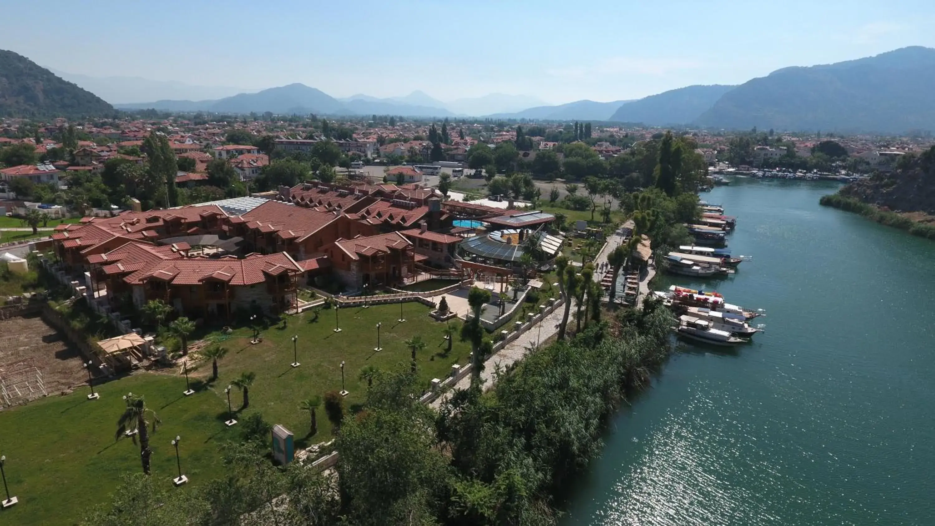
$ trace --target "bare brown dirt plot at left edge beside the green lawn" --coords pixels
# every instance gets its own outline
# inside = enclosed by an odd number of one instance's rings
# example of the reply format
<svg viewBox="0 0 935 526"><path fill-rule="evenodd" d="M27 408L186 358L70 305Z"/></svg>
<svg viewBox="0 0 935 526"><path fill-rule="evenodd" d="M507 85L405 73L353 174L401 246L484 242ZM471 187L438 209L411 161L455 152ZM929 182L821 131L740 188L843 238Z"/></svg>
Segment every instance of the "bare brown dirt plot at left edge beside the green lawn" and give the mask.
<svg viewBox="0 0 935 526"><path fill-rule="evenodd" d="M0 320L0 377L9 384L16 371L30 366L39 369L50 395L87 380L78 350L42 318Z"/></svg>

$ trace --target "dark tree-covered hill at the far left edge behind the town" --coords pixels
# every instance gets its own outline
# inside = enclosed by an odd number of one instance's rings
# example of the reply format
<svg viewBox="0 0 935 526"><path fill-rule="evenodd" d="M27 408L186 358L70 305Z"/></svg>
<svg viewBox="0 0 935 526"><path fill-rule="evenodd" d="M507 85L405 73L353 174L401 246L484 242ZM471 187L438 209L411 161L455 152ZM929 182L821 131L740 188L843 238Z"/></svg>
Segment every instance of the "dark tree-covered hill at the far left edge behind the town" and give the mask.
<svg viewBox="0 0 935 526"><path fill-rule="evenodd" d="M93 117L113 113L114 108L94 93L56 77L22 55L0 50L0 115Z"/></svg>

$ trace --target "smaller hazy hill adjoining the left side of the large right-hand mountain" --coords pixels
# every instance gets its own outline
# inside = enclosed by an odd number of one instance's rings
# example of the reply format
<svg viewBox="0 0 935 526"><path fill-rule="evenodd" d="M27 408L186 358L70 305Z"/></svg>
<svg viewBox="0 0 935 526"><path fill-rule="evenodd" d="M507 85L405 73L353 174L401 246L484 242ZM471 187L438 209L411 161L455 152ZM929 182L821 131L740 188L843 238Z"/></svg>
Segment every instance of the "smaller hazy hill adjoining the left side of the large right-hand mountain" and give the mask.
<svg viewBox="0 0 935 526"><path fill-rule="evenodd" d="M686 86L621 105L608 121L642 122L648 126L686 124L695 121L734 86Z"/></svg>

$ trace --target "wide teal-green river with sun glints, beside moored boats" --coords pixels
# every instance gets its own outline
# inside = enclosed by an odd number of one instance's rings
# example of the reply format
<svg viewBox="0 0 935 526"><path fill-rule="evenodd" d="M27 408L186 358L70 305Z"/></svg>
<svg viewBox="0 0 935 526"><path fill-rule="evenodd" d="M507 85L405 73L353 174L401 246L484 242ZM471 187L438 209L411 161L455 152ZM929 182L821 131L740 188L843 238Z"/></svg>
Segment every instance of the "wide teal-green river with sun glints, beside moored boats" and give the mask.
<svg viewBox="0 0 935 526"><path fill-rule="evenodd" d="M935 243L736 179L736 276L666 277L764 308L736 350L683 346L612 421L563 526L935 524Z"/></svg>

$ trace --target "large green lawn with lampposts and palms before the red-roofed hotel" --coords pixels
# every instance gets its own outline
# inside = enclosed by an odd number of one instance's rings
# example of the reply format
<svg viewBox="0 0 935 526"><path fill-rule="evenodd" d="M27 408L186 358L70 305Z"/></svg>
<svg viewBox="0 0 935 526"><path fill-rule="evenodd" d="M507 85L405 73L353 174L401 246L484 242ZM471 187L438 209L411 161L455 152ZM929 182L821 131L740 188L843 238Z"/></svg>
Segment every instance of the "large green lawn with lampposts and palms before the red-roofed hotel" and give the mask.
<svg viewBox="0 0 935 526"><path fill-rule="evenodd" d="M318 434L309 436L309 414L298 410L299 402L312 395L341 389L340 363L345 362L345 398L348 411L365 401L366 380L358 379L361 368L372 364L381 370L409 367L410 350L404 340L419 334L426 347L418 356L419 376L426 389L433 377L443 378L453 363L468 363L467 343L456 336L450 354L445 354L444 324L431 320L429 307L403 304L407 321L399 323L399 306L371 306L338 310L340 333L334 333L335 311L324 310L317 321L311 312L288 317L286 329L271 327L262 332L263 342L250 343L251 330L240 328L223 341L229 349L219 363L220 377L209 382L210 363L191 375L195 392L185 397L185 379L174 373L141 373L109 381L97 389L100 400L89 402L88 390L50 397L29 405L0 411L0 454L7 456L7 481L20 504L0 513L2 524L72 524L89 505L104 502L119 476L138 472L139 449L129 440L114 442L117 419L122 413L122 394L132 391L146 397L163 423L151 436L152 474L170 484L175 476L175 455L170 441L182 437L180 456L183 472L192 485L221 474L219 448L229 438L239 440L239 430L226 428L227 399L223 388L241 372L252 371L256 380L250 389L250 407L243 412L262 413L272 424L282 424L295 434L296 447L329 440L331 424L318 411ZM381 326L381 352L376 323ZM459 326L458 320L452 325ZM298 335L298 361L293 368L292 336ZM241 394L231 393L235 412ZM240 417L242 418L242 417ZM182 489L184 490L184 489Z"/></svg>

